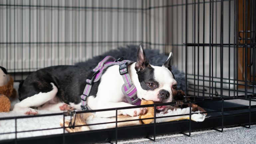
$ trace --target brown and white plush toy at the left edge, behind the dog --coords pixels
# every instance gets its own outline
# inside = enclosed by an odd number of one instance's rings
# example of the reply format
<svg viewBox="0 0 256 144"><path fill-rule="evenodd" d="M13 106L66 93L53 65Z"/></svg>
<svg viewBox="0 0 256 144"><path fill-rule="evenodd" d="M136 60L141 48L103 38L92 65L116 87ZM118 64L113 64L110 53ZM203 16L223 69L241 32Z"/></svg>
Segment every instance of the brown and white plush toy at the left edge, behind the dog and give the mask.
<svg viewBox="0 0 256 144"><path fill-rule="evenodd" d="M15 98L16 90L13 88L13 78L6 69L0 66L0 112L9 112L11 108L10 97Z"/></svg>

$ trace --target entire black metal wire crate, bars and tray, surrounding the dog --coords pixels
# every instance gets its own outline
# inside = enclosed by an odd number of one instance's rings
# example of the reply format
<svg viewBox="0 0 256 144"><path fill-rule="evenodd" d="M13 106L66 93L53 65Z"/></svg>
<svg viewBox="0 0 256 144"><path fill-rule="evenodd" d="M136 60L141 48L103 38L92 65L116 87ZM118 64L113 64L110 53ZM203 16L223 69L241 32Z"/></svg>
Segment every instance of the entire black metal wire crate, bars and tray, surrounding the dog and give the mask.
<svg viewBox="0 0 256 144"><path fill-rule="evenodd" d="M200 104L207 110L205 113L212 114L200 123L191 121L190 113L190 120L127 127L117 127L120 121L116 117L112 122L116 123L115 128L69 134L64 132L66 127L56 127L63 128L63 134L36 138L17 138L17 133L28 132L17 131L17 120L55 115L65 118L68 114L0 118L15 120L15 131L9 132L15 133L15 138L2 142L73 143L84 142L84 138L88 143L117 142L149 136L155 140L156 135L172 132L190 136L197 129L222 132L224 126L250 128L256 122L255 11L254 0L1 0L1 66L16 81L40 68L74 64L121 45L144 43L162 53L173 51L173 64L185 72L189 84L184 103L190 108L191 103ZM230 100L236 105L230 105ZM243 105L237 104L241 101ZM156 109L175 104L135 107ZM117 113L119 109L127 108L108 110ZM97 111L106 110L86 112ZM31 131L40 130L47 129ZM132 132L120 134L127 131Z"/></svg>

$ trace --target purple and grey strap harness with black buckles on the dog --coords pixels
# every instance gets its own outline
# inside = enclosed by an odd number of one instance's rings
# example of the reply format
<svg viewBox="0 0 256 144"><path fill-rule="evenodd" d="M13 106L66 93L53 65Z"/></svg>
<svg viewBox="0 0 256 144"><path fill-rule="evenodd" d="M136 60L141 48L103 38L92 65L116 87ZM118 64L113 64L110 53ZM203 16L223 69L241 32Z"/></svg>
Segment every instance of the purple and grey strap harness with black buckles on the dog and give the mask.
<svg viewBox="0 0 256 144"><path fill-rule="evenodd" d="M128 103L133 105L140 105L141 100L137 97L137 89L132 83L131 77L128 72L128 65L134 63L133 61L123 60L123 58L115 59L112 56L106 56L98 65L90 72L86 79L86 85L81 95L81 108L88 110L87 97L90 96L90 91L94 82L99 81L105 69L113 65L119 65L119 73L122 75L124 84L122 85L122 92L128 98Z"/></svg>

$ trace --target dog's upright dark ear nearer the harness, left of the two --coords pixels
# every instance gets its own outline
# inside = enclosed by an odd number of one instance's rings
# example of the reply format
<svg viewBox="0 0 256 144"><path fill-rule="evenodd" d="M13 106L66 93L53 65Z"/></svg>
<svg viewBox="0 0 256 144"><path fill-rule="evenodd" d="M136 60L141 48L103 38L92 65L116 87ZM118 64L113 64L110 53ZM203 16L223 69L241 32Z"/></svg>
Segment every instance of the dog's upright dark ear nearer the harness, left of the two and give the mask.
<svg viewBox="0 0 256 144"><path fill-rule="evenodd" d="M143 45L140 44L137 51L137 63L135 64L135 70L140 72L144 70L146 67L149 67L149 61L145 55Z"/></svg>

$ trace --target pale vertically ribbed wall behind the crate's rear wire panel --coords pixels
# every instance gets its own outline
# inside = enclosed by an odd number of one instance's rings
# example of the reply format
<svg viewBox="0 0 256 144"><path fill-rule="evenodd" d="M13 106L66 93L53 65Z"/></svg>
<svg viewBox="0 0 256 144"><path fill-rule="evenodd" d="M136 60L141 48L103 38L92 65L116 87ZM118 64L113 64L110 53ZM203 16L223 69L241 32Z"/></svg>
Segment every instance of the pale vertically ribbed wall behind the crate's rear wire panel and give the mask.
<svg viewBox="0 0 256 144"><path fill-rule="evenodd" d="M164 2L151 0L151 6ZM9 72L71 65L142 41L166 43L166 8L143 10L149 7L149 0L0 0L0 4L0 65ZM61 7L55 7L58 5ZM58 41L61 43L44 43ZM156 48L163 51L164 46Z"/></svg>

